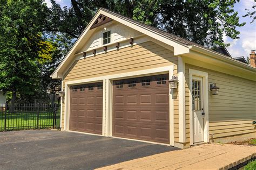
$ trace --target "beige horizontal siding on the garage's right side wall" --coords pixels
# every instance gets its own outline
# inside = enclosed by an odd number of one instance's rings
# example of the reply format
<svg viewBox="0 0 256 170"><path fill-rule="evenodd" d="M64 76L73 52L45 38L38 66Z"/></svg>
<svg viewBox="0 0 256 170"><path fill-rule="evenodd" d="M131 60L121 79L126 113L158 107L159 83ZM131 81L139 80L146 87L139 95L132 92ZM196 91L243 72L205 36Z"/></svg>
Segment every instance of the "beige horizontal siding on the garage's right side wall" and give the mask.
<svg viewBox="0 0 256 170"><path fill-rule="evenodd" d="M256 81L186 64L186 101L189 99L190 68L208 73L208 88L210 83L220 87L219 95L211 95L210 89L208 92L210 138L211 133L214 141L245 133L255 134L252 121L256 120Z"/></svg>

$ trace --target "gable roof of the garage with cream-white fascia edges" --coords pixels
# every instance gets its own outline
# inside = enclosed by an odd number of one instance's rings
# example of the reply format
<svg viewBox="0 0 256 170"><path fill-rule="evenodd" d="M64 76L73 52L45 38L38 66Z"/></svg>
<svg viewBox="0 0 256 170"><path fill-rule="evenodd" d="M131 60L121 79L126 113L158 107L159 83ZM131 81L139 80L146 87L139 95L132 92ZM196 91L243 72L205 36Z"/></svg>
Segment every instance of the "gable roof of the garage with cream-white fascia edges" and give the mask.
<svg viewBox="0 0 256 170"><path fill-rule="evenodd" d="M184 38L180 38L174 34L168 33L163 30L159 30L156 27L146 25L144 23L138 22L136 20L133 20L128 17L124 17L120 15L119 13L100 8L96 15L92 18L91 22L86 26L85 30L80 34L79 38L76 40L68 54L63 58L63 60L60 62L59 66L56 68L56 70L52 73L51 77L53 79L62 79L61 74L58 75L58 73L62 73L63 69L65 69L65 63L66 62L71 62L70 56L72 57L72 54L75 54L75 49L78 48L79 42L82 40L88 38L87 34L93 33L95 29L91 29L92 25L95 24L99 16L105 16L107 18L110 18L112 20L116 20L117 22L124 24L126 26L132 27L132 29L137 30L139 32L142 32L146 34L149 37L152 37L154 39L157 39L164 44L167 44L169 46L174 47L174 55L181 55L181 54L186 54L190 52L190 49L198 52L203 52L208 55L212 55L215 58L225 60L227 62L232 63L233 65L236 65L238 67L243 67L245 69L250 69L255 72L255 68L251 67L249 65L246 65L245 63L239 62L235 59L230 58L229 56L226 56L224 54L221 54L219 52L214 51L211 48L204 47L202 45L196 44L190 40L186 40ZM67 64L66 64L67 65Z"/></svg>

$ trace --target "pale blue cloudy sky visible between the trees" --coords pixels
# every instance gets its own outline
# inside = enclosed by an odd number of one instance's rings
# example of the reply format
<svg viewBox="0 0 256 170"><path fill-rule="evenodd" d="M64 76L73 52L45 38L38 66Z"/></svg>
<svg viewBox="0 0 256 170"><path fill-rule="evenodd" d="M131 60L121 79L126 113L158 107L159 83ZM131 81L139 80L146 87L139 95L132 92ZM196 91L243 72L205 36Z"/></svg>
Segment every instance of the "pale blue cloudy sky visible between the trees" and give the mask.
<svg viewBox="0 0 256 170"><path fill-rule="evenodd" d="M51 7L50 0L45 0L48 7ZM56 0L60 6L70 6L70 0ZM223 37L225 43L230 43L231 45L227 47L227 51L231 54L233 58L244 56L247 58L251 50L256 50L256 20L251 24L252 18L242 17L247 13L245 9L252 9L252 6L256 5L254 0L240 0L239 3L235 3L234 10L238 11L240 23L245 22L245 26L238 27L237 30L240 31L239 39L233 40L226 36ZM252 11L252 10L251 10Z"/></svg>

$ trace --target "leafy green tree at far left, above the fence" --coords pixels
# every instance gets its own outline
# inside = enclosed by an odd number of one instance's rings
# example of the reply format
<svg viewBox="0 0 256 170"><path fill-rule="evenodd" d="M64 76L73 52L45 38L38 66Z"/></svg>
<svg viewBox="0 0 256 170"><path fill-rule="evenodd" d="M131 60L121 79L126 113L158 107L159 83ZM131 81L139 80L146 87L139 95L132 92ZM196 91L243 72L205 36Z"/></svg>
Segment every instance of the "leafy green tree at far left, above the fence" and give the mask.
<svg viewBox="0 0 256 170"><path fill-rule="evenodd" d="M11 102L40 87L48 12L42 0L0 2L0 89L11 91Z"/></svg>

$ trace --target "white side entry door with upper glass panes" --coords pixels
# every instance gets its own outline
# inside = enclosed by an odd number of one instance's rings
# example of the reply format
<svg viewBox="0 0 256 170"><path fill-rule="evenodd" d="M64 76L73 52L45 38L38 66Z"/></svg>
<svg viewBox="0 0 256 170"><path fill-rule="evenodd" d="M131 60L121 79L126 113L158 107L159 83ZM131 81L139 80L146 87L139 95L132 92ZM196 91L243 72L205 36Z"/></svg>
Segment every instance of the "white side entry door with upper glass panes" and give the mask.
<svg viewBox="0 0 256 170"><path fill-rule="evenodd" d="M203 78L192 76L193 143L204 141Z"/></svg>

